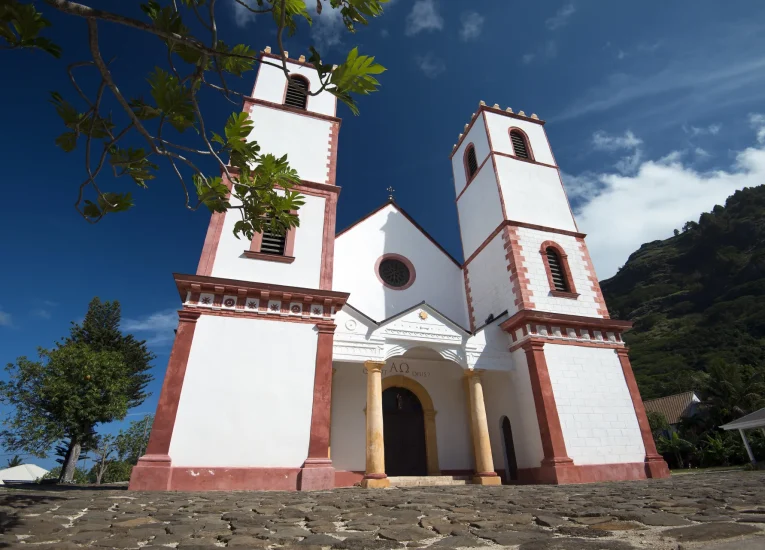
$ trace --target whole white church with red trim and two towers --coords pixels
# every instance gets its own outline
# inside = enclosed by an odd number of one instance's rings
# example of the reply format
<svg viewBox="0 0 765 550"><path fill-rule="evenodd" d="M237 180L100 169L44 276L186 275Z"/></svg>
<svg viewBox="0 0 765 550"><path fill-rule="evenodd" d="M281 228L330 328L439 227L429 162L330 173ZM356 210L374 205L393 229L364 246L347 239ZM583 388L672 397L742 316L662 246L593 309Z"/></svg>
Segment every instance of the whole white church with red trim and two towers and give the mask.
<svg viewBox="0 0 765 550"><path fill-rule="evenodd" d="M265 57L277 58L267 49ZM336 233L341 120L301 57L244 110L289 155L300 226L212 215L133 490L387 487L389 477L666 477L544 121L483 102L451 152L465 260L393 200Z"/></svg>

